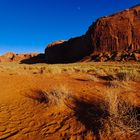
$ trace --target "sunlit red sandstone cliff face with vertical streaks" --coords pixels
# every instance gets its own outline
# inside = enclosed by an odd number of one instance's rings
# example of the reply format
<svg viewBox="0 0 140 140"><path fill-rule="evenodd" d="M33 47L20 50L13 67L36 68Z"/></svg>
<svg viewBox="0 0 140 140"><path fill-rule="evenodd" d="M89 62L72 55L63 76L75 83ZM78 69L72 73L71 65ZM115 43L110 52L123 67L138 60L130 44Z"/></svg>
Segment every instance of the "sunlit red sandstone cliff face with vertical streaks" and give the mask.
<svg viewBox="0 0 140 140"><path fill-rule="evenodd" d="M97 20L87 34L94 52L140 49L140 6Z"/></svg>

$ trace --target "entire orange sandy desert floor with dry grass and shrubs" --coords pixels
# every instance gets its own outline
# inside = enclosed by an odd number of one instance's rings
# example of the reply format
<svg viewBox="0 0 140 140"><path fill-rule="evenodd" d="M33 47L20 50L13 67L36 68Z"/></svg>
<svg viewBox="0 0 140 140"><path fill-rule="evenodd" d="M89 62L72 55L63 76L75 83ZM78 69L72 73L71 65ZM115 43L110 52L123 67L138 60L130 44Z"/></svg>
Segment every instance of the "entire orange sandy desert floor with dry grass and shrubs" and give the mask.
<svg viewBox="0 0 140 140"><path fill-rule="evenodd" d="M139 139L138 113L140 63L0 63L0 140Z"/></svg>

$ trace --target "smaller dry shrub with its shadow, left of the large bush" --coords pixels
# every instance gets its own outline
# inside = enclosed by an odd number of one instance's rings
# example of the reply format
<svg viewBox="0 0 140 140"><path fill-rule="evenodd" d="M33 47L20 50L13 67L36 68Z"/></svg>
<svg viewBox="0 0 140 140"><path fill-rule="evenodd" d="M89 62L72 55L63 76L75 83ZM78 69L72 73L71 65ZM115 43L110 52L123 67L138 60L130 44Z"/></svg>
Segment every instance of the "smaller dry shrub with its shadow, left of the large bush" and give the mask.
<svg viewBox="0 0 140 140"><path fill-rule="evenodd" d="M65 105L65 102L71 97L70 93L66 85L57 85L53 89L32 91L31 94L26 94L26 97L39 103L59 107Z"/></svg>

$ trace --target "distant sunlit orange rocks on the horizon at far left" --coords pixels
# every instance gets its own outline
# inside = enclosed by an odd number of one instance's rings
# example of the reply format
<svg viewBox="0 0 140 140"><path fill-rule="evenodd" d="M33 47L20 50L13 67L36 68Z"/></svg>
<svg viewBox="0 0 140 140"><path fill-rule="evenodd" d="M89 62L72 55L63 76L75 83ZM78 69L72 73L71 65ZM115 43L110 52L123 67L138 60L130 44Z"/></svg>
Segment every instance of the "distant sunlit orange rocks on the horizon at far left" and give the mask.
<svg viewBox="0 0 140 140"><path fill-rule="evenodd" d="M39 55L38 53L16 54L16 53L8 52L0 56L0 62L13 62L13 61L20 62L23 60L29 60L38 55Z"/></svg>

